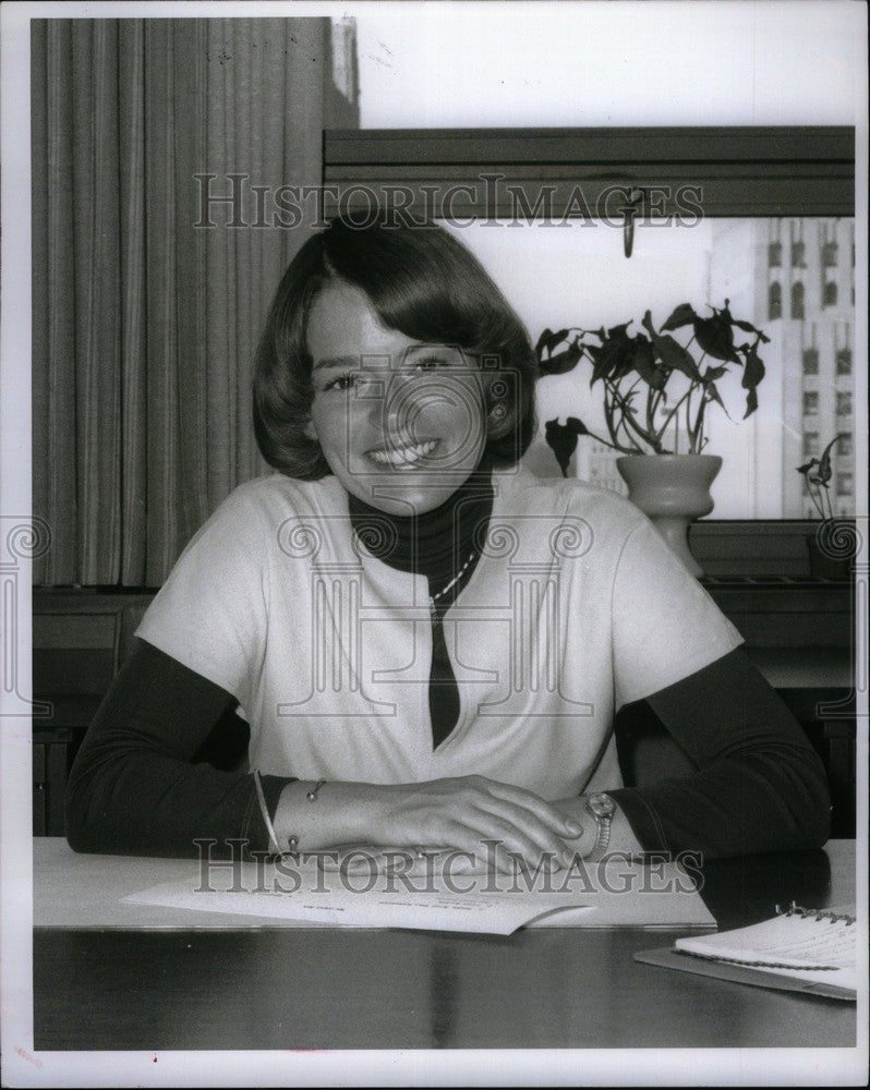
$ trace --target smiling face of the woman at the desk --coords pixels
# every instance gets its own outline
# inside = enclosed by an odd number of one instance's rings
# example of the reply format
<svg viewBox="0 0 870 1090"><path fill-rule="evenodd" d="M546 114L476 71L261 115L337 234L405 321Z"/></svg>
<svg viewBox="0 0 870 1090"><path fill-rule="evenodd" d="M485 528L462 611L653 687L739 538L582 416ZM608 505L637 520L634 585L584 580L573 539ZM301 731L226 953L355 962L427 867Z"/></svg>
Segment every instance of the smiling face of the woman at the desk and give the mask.
<svg viewBox="0 0 870 1090"><path fill-rule="evenodd" d="M391 514L445 502L486 443L484 376L474 361L387 329L342 281L317 296L307 339L312 431L345 488Z"/></svg>

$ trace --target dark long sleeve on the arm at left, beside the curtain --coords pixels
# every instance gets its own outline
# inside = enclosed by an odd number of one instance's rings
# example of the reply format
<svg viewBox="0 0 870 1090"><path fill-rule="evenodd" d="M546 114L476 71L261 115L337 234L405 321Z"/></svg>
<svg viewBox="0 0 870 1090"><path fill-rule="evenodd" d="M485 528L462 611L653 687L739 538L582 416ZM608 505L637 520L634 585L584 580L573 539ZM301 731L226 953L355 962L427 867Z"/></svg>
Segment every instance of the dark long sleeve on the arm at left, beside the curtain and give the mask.
<svg viewBox="0 0 870 1090"><path fill-rule="evenodd" d="M75 851L214 856L268 850L252 774L197 760L216 724L232 719L237 699L140 640L119 670L76 754L67 789L67 838ZM237 726L243 726L238 720ZM292 777L263 776L274 814ZM238 850L238 849L237 849Z"/></svg>

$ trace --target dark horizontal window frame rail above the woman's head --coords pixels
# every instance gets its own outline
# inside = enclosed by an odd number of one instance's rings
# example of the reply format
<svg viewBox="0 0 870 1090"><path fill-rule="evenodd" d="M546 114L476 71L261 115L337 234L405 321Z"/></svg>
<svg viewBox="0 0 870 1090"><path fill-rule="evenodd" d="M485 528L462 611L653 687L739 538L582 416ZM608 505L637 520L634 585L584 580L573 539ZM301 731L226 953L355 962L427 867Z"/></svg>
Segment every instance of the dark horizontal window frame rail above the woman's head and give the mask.
<svg viewBox="0 0 870 1090"><path fill-rule="evenodd" d="M325 130L323 183L327 215L365 207L366 190L404 189L410 207L430 208L424 186L452 194L455 218L511 216L519 194L534 208L547 191L558 214L579 185L593 211L614 189L665 190L655 208L675 215L680 190L700 186L705 217L854 217L855 129Z"/></svg>

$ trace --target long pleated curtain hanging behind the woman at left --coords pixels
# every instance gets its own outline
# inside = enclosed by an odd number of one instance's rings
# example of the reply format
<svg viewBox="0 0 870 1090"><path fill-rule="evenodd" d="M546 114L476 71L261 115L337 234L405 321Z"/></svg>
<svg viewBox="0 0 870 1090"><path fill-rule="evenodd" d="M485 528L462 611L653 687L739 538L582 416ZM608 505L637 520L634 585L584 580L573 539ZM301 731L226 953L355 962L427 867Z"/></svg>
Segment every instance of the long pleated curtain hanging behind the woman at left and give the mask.
<svg viewBox="0 0 870 1090"><path fill-rule="evenodd" d="M353 112L326 19L32 27L35 581L158 586L267 471L252 356L315 221L276 223L271 195L319 183L331 104Z"/></svg>

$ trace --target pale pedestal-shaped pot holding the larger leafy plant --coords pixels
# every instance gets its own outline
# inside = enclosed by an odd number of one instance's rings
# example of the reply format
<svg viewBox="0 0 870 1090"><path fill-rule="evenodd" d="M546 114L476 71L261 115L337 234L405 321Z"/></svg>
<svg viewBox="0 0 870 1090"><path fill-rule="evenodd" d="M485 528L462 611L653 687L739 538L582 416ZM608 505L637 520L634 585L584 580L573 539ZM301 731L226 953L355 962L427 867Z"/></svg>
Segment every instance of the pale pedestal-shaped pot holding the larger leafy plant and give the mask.
<svg viewBox="0 0 870 1090"><path fill-rule="evenodd" d="M710 486L722 469L717 455L627 455L616 467L628 498L647 514L693 576L703 570L689 549L689 524L710 514Z"/></svg>

